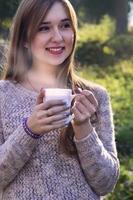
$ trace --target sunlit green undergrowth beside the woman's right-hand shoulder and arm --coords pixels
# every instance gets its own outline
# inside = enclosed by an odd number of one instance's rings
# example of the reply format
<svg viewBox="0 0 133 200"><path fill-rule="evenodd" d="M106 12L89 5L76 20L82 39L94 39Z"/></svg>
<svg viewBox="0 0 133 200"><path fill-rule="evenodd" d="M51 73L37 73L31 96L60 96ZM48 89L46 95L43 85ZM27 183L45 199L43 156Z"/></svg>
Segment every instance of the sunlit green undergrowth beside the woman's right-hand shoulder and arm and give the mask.
<svg viewBox="0 0 133 200"><path fill-rule="evenodd" d="M106 200L133 199L133 61L121 61L115 66L100 68L86 66L79 70L80 76L107 88L114 112L117 149L120 157L120 178L115 190Z"/></svg>

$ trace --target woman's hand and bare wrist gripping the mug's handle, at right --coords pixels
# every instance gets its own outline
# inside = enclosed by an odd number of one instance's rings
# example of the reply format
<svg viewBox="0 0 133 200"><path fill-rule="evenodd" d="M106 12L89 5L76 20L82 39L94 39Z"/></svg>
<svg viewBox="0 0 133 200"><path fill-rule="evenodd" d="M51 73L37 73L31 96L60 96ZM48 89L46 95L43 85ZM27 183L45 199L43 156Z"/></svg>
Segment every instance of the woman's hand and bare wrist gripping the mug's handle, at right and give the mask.
<svg viewBox="0 0 133 200"><path fill-rule="evenodd" d="M71 109L74 119L72 121L75 137L81 139L92 132L90 117L96 112L98 102L91 91L83 90L75 95L75 102Z"/></svg>

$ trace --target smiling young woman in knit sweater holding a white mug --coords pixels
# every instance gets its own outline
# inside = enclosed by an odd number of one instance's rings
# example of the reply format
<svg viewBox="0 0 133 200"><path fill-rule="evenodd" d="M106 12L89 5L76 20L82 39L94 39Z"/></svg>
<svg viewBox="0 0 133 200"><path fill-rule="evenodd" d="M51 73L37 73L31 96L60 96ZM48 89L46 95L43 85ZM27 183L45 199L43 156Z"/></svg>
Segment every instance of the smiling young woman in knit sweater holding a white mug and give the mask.
<svg viewBox="0 0 133 200"><path fill-rule="evenodd" d="M117 182L109 96L74 74L76 32L68 0L23 0L18 8L0 81L3 200L98 200ZM71 107L46 102L41 88L72 89Z"/></svg>

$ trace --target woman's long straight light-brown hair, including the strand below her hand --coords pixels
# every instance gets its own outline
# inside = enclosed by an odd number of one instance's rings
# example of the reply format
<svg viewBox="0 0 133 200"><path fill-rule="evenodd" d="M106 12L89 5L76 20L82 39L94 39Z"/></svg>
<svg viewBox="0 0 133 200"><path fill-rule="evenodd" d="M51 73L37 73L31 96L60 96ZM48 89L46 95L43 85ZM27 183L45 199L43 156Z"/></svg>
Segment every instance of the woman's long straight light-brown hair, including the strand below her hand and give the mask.
<svg viewBox="0 0 133 200"><path fill-rule="evenodd" d="M82 81L75 75L74 72L74 54L77 39L77 17L69 0L22 0L16 15L13 19L13 25L10 35L10 46L8 52L8 61L5 69L5 80L11 80L16 83L21 83L27 70L32 66L32 55L24 47L25 43L31 44L35 37L41 22L55 2L60 2L68 13L74 32L74 42L71 54L62 63L63 75L68 87L74 92L76 86L82 87ZM85 86L85 85L84 85ZM71 123L64 129L61 134L61 143L68 153L75 153L73 143L73 128Z"/></svg>

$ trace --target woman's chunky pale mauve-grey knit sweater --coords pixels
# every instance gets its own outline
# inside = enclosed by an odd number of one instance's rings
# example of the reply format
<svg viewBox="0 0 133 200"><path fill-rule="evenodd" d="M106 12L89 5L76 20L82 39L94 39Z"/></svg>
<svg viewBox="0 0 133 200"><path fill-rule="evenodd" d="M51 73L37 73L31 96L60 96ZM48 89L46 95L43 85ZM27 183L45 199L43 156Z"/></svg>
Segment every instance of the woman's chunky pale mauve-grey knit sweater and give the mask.
<svg viewBox="0 0 133 200"><path fill-rule="evenodd" d="M37 93L0 81L0 191L2 200L99 200L114 188L119 161L109 95L96 86L99 120L76 140L77 154L59 151L60 130L34 139L22 119L31 114Z"/></svg>

